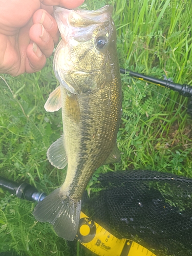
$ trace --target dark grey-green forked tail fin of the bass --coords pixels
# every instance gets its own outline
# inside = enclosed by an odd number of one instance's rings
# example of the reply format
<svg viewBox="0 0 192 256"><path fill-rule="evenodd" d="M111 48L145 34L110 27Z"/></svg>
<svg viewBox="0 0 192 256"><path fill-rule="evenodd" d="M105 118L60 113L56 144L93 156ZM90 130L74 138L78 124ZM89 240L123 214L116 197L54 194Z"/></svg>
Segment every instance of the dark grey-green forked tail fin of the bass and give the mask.
<svg viewBox="0 0 192 256"><path fill-rule="evenodd" d="M58 188L38 203L33 214L37 221L49 221L59 237L73 241L79 225L80 210L81 200L70 201Z"/></svg>

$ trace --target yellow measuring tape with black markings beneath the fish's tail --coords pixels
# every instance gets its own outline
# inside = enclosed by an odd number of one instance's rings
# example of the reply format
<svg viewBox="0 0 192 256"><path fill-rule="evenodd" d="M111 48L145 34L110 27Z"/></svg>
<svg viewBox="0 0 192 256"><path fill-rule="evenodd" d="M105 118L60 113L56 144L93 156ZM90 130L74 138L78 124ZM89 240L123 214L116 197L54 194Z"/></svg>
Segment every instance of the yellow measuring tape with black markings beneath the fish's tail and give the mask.
<svg viewBox="0 0 192 256"><path fill-rule="evenodd" d="M134 241L114 237L82 211L76 240L100 256L156 256Z"/></svg>

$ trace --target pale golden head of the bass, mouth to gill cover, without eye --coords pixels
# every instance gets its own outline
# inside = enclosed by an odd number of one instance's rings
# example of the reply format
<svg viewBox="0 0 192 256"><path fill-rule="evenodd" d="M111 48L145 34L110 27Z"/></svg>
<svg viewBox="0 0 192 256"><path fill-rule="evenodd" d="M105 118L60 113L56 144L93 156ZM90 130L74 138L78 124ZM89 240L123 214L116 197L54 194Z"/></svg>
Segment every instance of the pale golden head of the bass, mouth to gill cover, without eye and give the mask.
<svg viewBox="0 0 192 256"><path fill-rule="evenodd" d="M105 78L101 73L109 52L108 48L99 51L95 38L103 35L109 40L113 34L115 29L112 11L113 6L110 5L96 11L54 7L54 16L62 38L54 55L54 72L61 86L70 93L87 95L98 91L102 86ZM81 49L83 46L89 49L84 51ZM99 55L99 63L93 65L90 57L86 60L87 53L88 56L92 53L95 53L96 57Z"/></svg>

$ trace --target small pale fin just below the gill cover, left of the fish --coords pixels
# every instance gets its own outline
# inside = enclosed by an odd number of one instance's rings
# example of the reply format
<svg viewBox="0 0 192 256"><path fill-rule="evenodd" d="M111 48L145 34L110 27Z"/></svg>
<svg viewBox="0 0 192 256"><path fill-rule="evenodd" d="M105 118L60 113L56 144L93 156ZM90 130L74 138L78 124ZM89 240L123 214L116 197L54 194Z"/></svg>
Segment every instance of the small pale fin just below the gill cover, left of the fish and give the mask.
<svg viewBox="0 0 192 256"><path fill-rule="evenodd" d="M61 108L60 86L57 87L50 95L44 106L48 112L58 111Z"/></svg>

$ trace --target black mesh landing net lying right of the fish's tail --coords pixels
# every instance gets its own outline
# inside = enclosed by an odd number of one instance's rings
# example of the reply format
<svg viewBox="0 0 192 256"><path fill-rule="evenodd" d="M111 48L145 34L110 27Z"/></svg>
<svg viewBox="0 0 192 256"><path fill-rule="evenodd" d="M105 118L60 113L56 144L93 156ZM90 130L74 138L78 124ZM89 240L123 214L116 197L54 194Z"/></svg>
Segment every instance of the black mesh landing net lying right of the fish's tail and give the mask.
<svg viewBox="0 0 192 256"><path fill-rule="evenodd" d="M192 255L192 179L133 170L101 174L82 210L158 256Z"/></svg>

